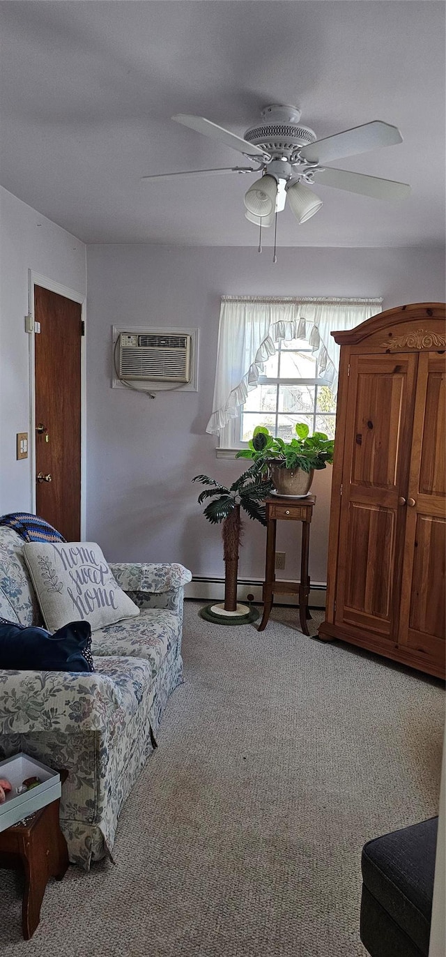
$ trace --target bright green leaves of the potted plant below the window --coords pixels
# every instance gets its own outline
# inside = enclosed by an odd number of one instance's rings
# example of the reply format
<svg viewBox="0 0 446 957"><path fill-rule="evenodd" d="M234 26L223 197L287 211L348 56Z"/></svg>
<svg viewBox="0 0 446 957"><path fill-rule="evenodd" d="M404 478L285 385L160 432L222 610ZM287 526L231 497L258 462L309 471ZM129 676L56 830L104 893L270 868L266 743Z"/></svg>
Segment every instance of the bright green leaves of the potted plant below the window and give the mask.
<svg viewBox="0 0 446 957"><path fill-rule="evenodd" d="M285 442L282 438L275 438L265 426L259 425L248 442L248 448L237 452L235 457L253 459L262 474L270 463L283 469L300 468L303 472L311 472L312 469L324 469L327 463L333 461L332 438L323 432L310 435L305 422L297 422L295 431L296 438Z"/></svg>

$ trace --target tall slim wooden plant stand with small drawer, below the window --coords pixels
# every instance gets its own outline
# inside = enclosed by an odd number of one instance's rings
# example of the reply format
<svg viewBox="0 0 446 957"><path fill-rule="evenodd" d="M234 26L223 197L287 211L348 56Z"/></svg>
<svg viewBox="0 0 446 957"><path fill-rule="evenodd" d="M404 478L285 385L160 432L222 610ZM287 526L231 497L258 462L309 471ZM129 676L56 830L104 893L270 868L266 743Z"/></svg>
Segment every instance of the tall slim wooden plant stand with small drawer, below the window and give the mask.
<svg viewBox="0 0 446 957"><path fill-rule="evenodd" d="M258 626L259 632L262 632L263 629L266 628L273 607L273 597L274 594L277 593L299 595L301 630L303 634L310 634L307 625L307 619L311 618L311 614L308 611L308 595L310 591L308 551L310 545L310 522L315 502L316 497L313 495L308 495L304 499L288 499L285 498L285 496L275 496L274 498L265 500L266 569L263 584L263 617ZM276 580L276 530L278 519L283 519L285 522L302 523L300 582L279 582Z"/></svg>

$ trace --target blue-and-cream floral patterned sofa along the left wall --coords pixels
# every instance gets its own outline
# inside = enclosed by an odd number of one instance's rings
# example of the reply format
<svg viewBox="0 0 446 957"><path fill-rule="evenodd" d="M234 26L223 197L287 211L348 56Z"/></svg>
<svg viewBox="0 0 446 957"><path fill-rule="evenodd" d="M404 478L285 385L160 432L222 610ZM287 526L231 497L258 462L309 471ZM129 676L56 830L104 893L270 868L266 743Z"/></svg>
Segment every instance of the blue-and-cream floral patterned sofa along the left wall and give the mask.
<svg viewBox="0 0 446 957"><path fill-rule="evenodd" d="M42 625L23 540L0 527L0 617ZM94 673L0 669L0 757L25 751L67 768L60 825L70 860L111 855L118 817L146 758L170 693L183 677L182 565L111 565L140 607L137 618L92 635Z"/></svg>

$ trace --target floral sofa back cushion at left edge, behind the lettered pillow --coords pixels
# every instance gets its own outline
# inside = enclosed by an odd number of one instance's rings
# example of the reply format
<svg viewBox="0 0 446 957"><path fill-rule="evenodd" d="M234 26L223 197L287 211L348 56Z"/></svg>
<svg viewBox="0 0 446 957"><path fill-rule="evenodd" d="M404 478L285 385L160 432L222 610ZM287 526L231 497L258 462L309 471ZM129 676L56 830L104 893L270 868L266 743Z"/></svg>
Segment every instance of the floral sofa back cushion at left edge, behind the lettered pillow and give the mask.
<svg viewBox="0 0 446 957"><path fill-rule="evenodd" d="M23 544L12 528L0 527L0 616L20 625L42 625Z"/></svg>

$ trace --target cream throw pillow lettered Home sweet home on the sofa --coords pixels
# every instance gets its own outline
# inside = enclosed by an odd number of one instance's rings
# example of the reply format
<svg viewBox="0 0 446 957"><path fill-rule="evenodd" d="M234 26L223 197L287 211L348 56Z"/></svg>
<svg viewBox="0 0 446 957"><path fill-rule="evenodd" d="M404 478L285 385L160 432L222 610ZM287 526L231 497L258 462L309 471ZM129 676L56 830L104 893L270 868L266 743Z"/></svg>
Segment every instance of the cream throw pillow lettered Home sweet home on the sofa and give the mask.
<svg viewBox="0 0 446 957"><path fill-rule="evenodd" d="M95 632L140 613L113 577L96 542L29 542L23 555L51 632L75 616L88 621Z"/></svg>

